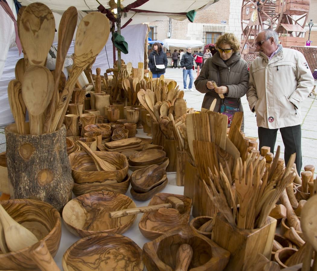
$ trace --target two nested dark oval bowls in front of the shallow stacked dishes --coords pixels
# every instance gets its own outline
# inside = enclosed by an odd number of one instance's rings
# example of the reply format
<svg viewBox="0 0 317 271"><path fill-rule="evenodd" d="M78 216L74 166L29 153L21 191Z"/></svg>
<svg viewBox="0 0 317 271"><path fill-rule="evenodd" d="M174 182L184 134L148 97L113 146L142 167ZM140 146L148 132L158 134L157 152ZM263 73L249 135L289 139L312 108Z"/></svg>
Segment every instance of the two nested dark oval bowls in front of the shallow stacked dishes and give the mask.
<svg viewBox="0 0 317 271"><path fill-rule="evenodd" d="M166 171L158 165L134 171L131 175L131 195L134 199L145 201L160 192L168 183Z"/></svg>

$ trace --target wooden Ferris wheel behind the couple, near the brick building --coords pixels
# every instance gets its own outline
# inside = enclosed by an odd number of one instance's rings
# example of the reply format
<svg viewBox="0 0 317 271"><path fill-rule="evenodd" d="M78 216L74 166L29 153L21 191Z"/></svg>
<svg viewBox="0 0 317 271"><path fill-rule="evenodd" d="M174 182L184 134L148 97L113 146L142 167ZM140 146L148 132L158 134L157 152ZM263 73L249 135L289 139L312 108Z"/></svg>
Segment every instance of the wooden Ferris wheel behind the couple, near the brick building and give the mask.
<svg viewBox="0 0 317 271"><path fill-rule="evenodd" d="M304 26L310 0L243 0L241 7L241 52L254 53L255 39L263 29L274 29L284 47L304 43ZM300 44L298 44L300 45ZM305 44L302 44L305 45Z"/></svg>

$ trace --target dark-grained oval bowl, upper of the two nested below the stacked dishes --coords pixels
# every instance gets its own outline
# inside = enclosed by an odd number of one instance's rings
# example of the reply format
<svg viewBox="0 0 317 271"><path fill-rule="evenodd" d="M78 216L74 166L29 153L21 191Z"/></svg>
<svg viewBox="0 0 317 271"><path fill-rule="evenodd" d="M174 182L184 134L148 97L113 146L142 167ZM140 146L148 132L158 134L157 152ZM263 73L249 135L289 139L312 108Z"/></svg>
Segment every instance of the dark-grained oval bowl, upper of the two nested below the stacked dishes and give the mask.
<svg viewBox="0 0 317 271"><path fill-rule="evenodd" d="M165 169L158 165L138 169L131 175L131 186L138 193L148 192L166 180Z"/></svg>

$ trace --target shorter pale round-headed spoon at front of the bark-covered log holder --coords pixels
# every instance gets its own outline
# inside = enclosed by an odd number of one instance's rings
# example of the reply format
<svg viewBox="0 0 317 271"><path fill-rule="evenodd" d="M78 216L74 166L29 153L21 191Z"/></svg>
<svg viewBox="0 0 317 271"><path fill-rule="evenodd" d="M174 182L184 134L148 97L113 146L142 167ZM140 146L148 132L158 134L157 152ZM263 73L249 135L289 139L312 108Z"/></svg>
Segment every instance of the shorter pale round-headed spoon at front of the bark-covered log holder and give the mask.
<svg viewBox="0 0 317 271"><path fill-rule="evenodd" d="M30 134L38 135L42 130L41 114L49 105L53 95L54 79L48 68L30 66L24 74L22 97L29 112Z"/></svg>

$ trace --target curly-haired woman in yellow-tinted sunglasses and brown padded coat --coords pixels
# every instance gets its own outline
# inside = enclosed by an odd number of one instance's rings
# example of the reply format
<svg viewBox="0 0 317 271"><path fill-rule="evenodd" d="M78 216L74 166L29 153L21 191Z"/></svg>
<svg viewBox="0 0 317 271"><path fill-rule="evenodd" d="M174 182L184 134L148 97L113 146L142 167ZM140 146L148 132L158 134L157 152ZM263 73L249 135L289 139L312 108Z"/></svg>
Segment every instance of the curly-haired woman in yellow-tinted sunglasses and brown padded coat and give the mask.
<svg viewBox="0 0 317 271"><path fill-rule="evenodd" d="M226 102L236 104L239 111L243 111L240 98L248 90L249 72L247 62L239 53L240 42L232 33L225 33L218 37L215 47L217 53L205 61L194 82L199 92L206 93L202 107L209 109L217 99L214 111L219 112L223 103L219 94L223 94ZM218 87L215 88L211 81L215 81Z"/></svg>

